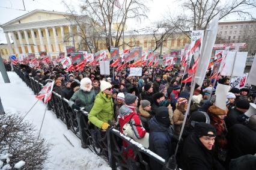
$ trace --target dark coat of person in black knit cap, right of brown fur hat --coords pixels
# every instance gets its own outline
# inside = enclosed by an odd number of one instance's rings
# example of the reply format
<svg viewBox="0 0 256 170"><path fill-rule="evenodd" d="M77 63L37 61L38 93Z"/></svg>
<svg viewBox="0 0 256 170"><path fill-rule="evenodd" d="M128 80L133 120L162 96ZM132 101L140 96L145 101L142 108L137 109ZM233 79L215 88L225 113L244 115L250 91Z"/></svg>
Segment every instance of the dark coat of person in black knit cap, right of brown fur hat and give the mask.
<svg viewBox="0 0 256 170"><path fill-rule="evenodd" d="M225 123L227 126L227 129L229 130L230 127L232 127L234 124L240 123L237 118L239 118L240 115L243 115L243 112L237 110L236 108L231 109L227 117L225 118Z"/></svg>

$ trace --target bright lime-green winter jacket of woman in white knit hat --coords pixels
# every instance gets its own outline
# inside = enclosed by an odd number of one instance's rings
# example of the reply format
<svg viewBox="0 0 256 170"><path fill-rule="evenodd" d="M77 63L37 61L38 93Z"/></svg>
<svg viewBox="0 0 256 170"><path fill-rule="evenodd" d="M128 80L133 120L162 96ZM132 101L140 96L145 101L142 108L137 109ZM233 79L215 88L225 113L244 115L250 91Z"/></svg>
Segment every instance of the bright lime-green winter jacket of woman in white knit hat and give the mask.
<svg viewBox="0 0 256 170"><path fill-rule="evenodd" d="M88 116L89 121L99 128L102 128L103 123L108 123L108 120L112 122L114 120L113 106L113 100L106 98L100 91Z"/></svg>

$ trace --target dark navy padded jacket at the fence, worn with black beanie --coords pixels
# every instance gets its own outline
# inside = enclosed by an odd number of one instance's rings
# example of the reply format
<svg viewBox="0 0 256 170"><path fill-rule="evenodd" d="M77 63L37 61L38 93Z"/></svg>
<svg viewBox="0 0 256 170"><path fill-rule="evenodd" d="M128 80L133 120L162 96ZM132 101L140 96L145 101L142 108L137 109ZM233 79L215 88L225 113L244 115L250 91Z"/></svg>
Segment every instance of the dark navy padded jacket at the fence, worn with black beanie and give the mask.
<svg viewBox="0 0 256 170"><path fill-rule="evenodd" d="M173 132L171 128L160 125L156 118L153 117L149 121L150 135L149 135L149 149L160 157L168 161L169 157L173 154L173 146L171 145L171 138ZM154 159L150 159L151 169L162 169L163 165Z"/></svg>

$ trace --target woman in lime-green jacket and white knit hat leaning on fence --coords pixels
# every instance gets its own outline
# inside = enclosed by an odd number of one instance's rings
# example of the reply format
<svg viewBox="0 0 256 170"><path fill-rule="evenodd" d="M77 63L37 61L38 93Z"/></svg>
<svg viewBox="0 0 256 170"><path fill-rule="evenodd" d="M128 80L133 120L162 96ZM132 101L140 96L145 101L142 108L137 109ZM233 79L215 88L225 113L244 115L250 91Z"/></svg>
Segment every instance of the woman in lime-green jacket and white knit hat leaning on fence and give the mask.
<svg viewBox="0 0 256 170"><path fill-rule="evenodd" d="M112 100L112 85L105 80L100 82L100 93L97 94L88 119L102 130L109 127L108 122L114 120L114 103Z"/></svg>

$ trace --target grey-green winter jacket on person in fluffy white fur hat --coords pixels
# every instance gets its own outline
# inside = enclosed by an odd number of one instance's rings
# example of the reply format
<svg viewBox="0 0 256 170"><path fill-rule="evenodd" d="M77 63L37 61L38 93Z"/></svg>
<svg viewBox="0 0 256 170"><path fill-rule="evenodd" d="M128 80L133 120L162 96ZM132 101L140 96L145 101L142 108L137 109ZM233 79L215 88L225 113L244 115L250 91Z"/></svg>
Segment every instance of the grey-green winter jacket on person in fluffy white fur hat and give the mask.
<svg viewBox="0 0 256 170"><path fill-rule="evenodd" d="M82 102L80 106L84 107L84 111L87 111L89 113L91 111L91 108L93 108L95 96L96 94L93 89L91 91L84 91L79 89L70 98L69 106L72 107L72 105L76 102L76 99L80 99Z"/></svg>

